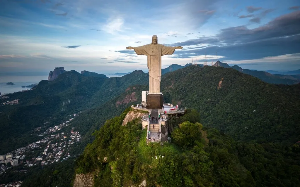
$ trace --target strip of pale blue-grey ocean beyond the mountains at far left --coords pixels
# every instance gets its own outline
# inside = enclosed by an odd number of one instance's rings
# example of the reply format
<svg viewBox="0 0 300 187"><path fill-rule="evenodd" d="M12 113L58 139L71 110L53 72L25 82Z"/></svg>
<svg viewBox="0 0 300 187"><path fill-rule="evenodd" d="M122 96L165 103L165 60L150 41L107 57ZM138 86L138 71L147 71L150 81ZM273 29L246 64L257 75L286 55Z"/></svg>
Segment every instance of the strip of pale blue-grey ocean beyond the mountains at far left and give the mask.
<svg viewBox="0 0 300 187"><path fill-rule="evenodd" d="M41 80L48 80L48 75L44 76L0 76L0 92L2 95L7 93L19 92L30 88L22 88L30 84L39 83ZM14 85L7 85L12 82Z"/></svg>

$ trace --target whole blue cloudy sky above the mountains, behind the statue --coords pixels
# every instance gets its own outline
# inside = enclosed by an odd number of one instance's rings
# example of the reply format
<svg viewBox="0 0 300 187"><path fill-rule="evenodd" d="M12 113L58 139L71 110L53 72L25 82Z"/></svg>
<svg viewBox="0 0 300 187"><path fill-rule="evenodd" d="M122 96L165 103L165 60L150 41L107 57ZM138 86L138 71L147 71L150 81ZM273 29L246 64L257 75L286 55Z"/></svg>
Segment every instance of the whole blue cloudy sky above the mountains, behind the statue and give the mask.
<svg viewBox="0 0 300 187"><path fill-rule="evenodd" d="M1 0L0 74L55 67L110 74L143 70L126 47L183 46L162 68L197 58L244 69L300 69L299 0ZM217 54L217 56L216 56Z"/></svg>

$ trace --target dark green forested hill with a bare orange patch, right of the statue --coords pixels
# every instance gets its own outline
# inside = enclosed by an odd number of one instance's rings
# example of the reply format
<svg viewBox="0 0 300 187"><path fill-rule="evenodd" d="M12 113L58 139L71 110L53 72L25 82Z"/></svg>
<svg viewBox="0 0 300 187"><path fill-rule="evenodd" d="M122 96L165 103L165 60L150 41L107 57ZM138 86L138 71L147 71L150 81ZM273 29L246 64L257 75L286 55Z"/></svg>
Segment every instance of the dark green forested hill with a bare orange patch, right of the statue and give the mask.
<svg viewBox="0 0 300 187"><path fill-rule="evenodd" d="M195 108L204 126L235 139L300 140L300 84L273 85L234 69L188 66L162 77L166 102Z"/></svg>

